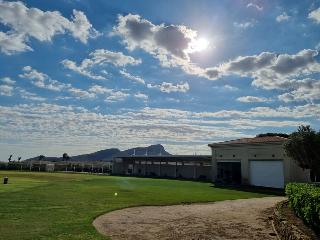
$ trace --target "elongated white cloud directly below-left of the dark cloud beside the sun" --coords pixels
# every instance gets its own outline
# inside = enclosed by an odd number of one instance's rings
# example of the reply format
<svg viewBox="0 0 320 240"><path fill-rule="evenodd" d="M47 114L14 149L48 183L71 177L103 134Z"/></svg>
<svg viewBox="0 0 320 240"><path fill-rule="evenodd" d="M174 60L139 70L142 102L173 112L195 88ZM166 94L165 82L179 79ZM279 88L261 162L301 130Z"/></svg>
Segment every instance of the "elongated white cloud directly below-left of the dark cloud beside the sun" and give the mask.
<svg viewBox="0 0 320 240"><path fill-rule="evenodd" d="M135 60L131 56L125 56L122 52L111 52L105 49L96 49L89 54L95 64L110 62L115 66L125 66L130 64L132 66L141 64L141 59Z"/></svg>

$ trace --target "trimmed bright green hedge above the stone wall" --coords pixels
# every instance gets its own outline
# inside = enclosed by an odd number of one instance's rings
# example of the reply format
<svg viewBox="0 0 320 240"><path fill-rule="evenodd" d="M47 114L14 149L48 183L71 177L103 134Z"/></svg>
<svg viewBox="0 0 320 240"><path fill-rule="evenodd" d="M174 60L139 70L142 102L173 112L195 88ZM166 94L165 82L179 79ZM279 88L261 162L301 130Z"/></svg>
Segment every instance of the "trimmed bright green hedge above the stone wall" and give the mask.
<svg viewBox="0 0 320 240"><path fill-rule="evenodd" d="M290 182L285 193L291 209L310 227L320 228L320 185Z"/></svg>

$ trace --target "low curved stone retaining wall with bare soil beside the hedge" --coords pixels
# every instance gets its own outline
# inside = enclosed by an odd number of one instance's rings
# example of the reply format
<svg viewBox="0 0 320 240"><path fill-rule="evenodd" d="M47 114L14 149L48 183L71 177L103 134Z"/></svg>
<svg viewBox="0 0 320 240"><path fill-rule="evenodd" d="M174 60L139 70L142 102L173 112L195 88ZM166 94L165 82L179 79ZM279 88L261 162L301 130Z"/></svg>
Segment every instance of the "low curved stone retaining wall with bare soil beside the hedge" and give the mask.
<svg viewBox="0 0 320 240"><path fill-rule="evenodd" d="M307 240L309 237L303 234L297 227L288 223L288 220L283 217L282 205L287 203L287 200L276 204L273 212L273 224L281 240Z"/></svg>

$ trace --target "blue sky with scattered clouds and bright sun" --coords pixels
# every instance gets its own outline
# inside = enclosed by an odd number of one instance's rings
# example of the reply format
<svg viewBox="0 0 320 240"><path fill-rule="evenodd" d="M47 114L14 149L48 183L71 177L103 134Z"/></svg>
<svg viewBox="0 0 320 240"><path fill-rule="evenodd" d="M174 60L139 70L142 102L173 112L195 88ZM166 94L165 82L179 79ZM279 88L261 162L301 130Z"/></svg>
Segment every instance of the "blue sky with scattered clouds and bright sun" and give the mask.
<svg viewBox="0 0 320 240"><path fill-rule="evenodd" d="M0 0L0 48L2 161L320 128L320 1Z"/></svg>

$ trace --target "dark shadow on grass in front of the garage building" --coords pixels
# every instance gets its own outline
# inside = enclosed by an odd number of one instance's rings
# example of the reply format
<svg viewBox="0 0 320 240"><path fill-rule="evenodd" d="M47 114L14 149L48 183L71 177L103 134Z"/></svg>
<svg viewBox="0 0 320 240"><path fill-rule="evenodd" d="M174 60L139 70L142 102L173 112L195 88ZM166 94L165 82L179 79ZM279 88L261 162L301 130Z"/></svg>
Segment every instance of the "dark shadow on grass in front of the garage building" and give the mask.
<svg viewBox="0 0 320 240"><path fill-rule="evenodd" d="M214 183L212 188L222 188L222 189L230 189L236 191L243 192L252 192L252 193L260 193L260 194L269 194L275 196L286 196L284 189L281 188L267 188L267 187L258 187L258 186L245 186L236 183L226 183L226 182L216 182Z"/></svg>

